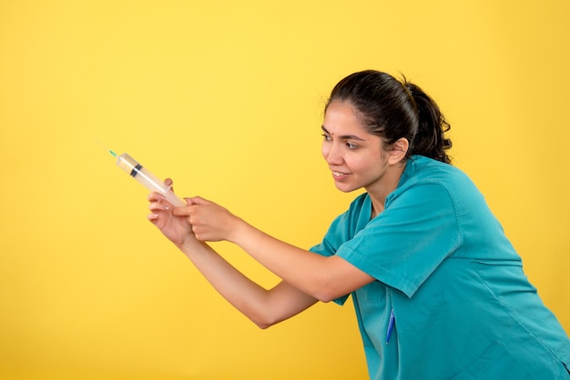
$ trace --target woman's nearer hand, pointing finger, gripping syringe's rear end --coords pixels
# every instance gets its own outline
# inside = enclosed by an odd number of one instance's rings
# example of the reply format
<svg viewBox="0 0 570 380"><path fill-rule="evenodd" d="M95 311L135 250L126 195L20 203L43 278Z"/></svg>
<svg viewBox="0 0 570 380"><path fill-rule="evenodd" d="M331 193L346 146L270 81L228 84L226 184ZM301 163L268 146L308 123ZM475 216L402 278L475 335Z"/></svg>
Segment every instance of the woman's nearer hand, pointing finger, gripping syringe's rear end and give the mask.
<svg viewBox="0 0 570 380"><path fill-rule="evenodd" d="M224 207L199 196L185 199L188 206L175 208L173 215L186 216L198 240L203 242L232 241L232 234L242 221L239 217L231 214Z"/></svg>

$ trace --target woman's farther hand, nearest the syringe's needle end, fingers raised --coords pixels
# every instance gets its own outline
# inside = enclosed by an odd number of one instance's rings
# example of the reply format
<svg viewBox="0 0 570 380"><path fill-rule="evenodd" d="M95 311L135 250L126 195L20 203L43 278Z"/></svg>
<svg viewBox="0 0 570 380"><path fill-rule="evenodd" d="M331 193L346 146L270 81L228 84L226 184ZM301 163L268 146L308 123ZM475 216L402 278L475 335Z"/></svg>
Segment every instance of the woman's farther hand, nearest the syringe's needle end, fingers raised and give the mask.
<svg viewBox="0 0 570 380"><path fill-rule="evenodd" d="M172 180L167 178L164 183L172 185ZM148 195L148 202L150 202L148 209L152 212L148 215L148 220L156 225L160 232L167 236L168 240L180 247L189 240L195 240L192 226L188 224L188 218L174 215L175 207L163 195L151 193ZM185 206L181 208L185 208Z"/></svg>

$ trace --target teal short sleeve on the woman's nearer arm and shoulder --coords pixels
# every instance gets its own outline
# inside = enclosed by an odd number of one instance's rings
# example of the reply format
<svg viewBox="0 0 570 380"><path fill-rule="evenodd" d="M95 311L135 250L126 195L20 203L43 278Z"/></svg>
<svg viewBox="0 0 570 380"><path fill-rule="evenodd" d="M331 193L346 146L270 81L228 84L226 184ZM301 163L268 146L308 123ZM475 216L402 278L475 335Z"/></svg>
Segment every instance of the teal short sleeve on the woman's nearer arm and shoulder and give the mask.
<svg viewBox="0 0 570 380"><path fill-rule="evenodd" d="M460 245L453 196L444 185L426 182L392 193L382 214L336 255L412 297Z"/></svg>

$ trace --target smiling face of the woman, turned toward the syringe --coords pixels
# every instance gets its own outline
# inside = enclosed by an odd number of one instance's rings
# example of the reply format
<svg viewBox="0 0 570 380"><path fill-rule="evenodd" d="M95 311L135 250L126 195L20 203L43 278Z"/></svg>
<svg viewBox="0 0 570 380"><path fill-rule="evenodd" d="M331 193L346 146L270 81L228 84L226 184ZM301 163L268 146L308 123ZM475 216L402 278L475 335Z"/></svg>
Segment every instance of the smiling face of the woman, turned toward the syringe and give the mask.
<svg viewBox="0 0 570 380"><path fill-rule="evenodd" d="M379 190L388 166L382 139L368 133L348 102L332 101L324 115L322 155L339 190Z"/></svg>

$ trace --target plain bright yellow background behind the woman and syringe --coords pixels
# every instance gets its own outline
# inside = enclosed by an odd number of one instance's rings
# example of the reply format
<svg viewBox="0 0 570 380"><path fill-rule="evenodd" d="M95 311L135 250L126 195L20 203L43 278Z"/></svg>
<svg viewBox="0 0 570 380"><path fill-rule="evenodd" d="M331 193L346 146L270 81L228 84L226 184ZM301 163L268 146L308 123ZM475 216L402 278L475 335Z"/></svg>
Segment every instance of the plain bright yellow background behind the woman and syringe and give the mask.
<svg viewBox="0 0 570 380"><path fill-rule="evenodd" d="M565 0L1 0L0 378L367 378L351 305L259 330L96 143L309 247L355 196L321 159L322 107L367 68L441 105L454 164L568 331L569 15Z"/></svg>

